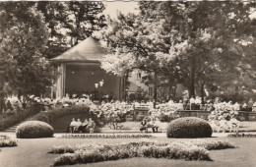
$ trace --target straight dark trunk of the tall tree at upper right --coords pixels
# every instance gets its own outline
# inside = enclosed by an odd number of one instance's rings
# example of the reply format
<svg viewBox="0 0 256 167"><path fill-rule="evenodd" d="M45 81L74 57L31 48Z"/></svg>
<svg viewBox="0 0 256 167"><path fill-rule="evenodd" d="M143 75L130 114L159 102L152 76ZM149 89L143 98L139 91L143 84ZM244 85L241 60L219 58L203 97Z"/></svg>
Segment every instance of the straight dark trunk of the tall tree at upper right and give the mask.
<svg viewBox="0 0 256 167"><path fill-rule="evenodd" d="M189 98L191 96L195 96L195 64L196 64L196 57L190 57L190 86L189 86Z"/></svg>

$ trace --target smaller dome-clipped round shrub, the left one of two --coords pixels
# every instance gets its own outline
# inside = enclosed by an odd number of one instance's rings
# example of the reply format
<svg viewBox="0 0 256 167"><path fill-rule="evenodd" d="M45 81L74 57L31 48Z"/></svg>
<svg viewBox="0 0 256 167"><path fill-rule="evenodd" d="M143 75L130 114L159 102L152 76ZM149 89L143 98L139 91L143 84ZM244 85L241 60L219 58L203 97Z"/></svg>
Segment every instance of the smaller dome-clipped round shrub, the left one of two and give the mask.
<svg viewBox="0 0 256 167"><path fill-rule="evenodd" d="M53 128L41 121L27 121L16 129L17 138L35 139L53 137Z"/></svg>

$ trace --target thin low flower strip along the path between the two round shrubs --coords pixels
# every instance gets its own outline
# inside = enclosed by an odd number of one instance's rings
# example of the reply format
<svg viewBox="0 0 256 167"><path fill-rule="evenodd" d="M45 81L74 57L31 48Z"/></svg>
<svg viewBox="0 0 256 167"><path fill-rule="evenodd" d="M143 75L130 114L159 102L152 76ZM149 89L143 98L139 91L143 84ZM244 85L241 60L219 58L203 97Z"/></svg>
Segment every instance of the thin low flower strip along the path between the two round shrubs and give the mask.
<svg viewBox="0 0 256 167"><path fill-rule="evenodd" d="M61 139L151 139L152 135L100 135L100 134L83 134L83 135L63 135Z"/></svg>

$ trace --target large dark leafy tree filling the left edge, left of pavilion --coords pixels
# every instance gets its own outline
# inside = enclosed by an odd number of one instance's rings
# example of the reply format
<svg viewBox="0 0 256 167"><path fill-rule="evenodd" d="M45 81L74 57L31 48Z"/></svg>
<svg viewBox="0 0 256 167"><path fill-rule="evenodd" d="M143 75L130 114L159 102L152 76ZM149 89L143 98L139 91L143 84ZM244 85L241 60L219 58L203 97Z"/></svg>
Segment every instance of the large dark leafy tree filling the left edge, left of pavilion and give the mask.
<svg viewBox="0 0 256 167"><path fill-rule="evenodd" d="M1 89L23 96L43 94L54 79L53 69L43 57L48 39L42 15L33 2L1 2Z"/></svg>

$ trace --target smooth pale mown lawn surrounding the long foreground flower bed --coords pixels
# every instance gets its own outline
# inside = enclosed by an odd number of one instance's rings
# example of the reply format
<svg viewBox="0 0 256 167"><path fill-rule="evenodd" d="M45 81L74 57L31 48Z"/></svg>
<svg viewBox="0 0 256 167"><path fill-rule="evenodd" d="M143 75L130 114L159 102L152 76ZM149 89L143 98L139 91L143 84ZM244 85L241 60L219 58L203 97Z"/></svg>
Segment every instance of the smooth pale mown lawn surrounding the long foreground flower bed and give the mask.
<svg viewBox="0 0 256 167"><path fill-rule="evenodd" d="M6 134L6 133L3 133ZM6 134L15 139L15 134ZM222 134L223 135L223 134ZM61 134L55 135L60 137ZM215 134L216 136L216 134ZM140 167L159 167L159 166L246 166L255 167L256 165L256 139L231 139L221 137L211 139L228 139L235 143L239 148L211 150L210 156L214 161L183 161L183 160L168 160L168 159L150 159L150 158L133 158L117 161L99 162L87 165L72 165L74 167L92 166L92 167L112 167L112 166L140 166ZM224 135L223 135L224 136ZM17 147L4 147L0 152L0 166L4 167L49 167L53 164L54 158L59 156L49 154L47 151L52 145L60 144L76 144L76 143L117 143L138 141L140 139L18 139ZM190 139L167 139L165 134L157 134L154 139L146 140L190 140Z"/></svg>

